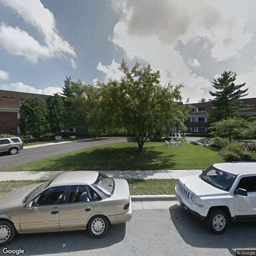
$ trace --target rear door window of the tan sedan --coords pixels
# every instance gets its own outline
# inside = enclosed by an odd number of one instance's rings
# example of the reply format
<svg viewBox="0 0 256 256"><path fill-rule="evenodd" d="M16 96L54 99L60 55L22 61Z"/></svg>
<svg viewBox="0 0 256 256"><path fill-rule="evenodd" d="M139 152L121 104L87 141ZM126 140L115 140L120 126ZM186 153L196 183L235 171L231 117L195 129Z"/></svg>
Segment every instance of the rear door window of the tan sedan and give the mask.
<svg viewBox="0 0 256 256"><path fill-rule="evenodd" d="M78 203L78 202L89 202L90 197L88 196L85 185L72 185L68 186L67 193L64 197L66 204Z"/></svg>

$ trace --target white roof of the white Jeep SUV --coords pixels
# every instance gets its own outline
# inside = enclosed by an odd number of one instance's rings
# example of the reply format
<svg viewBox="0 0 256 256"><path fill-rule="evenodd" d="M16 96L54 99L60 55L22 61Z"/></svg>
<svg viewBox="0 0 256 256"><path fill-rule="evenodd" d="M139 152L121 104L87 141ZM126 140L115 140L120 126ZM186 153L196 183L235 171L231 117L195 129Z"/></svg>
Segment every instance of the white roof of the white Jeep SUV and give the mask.
<svg viewBox="0 0 256 256"><path fill-rule="evenodd" d="M255 172L256 174L256 162L231 162L213 164L213 166L219 170L230 172L233 174Z"/></svg>

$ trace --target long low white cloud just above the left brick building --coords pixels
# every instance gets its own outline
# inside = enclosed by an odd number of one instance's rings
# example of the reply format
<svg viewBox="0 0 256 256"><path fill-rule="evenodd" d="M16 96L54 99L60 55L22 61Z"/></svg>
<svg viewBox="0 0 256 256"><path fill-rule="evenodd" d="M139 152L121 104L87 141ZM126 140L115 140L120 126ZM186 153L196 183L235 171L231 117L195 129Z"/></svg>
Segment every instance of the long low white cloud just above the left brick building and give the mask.
<svg viewBox="0 0 256 256"><path fill-rule="evenodd" d="M1 90L8 90L14 92L29 92L35 94L45 94L53 95L55 93L62 93L62 88L60 87L47 87L44 90L36 89L33 86L23 84L22 82L4 84L1 86Z"/></svg>

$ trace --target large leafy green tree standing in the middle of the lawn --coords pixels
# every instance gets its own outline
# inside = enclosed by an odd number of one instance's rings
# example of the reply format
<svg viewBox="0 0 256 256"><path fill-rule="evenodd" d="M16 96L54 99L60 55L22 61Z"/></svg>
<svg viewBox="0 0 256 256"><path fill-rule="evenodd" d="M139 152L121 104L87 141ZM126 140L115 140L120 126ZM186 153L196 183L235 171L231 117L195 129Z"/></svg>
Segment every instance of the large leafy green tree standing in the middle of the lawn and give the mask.
<svg viewBox="0 0 256 256"><path fill-rule="evenodd" d="M143 150L146 139L157 130L170 132L174 121L188 117L191 108L174 100L182 100L182 84L164 87L160 85L160 72L153 72L150 64L139 68L137 62L129 71L127 62L122 60L120 81L110 79L100 87L99 122L107 128L126 128L135 134L138 148Z"/></svg>

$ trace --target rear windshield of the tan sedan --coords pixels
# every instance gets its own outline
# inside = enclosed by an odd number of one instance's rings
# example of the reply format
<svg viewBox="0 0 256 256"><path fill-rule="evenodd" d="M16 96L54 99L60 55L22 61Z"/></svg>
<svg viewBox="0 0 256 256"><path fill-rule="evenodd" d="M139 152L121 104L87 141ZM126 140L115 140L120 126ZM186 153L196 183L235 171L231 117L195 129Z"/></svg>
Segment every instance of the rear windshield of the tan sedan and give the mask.
<svg viewBox="0 0 256 256"><path fill-rule="evenodd" d="M115 182L112 178L99 173L96 182L94 182L92 186L100 190L100 192L102 192L105 196L110 197L114 192Z"/></svg>

